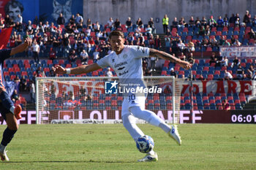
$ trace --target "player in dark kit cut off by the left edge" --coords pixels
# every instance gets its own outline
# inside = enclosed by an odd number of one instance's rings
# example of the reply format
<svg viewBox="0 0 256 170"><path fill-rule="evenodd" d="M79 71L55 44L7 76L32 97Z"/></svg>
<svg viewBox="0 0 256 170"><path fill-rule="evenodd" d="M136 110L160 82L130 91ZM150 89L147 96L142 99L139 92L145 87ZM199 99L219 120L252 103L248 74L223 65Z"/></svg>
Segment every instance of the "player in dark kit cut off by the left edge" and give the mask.
<svg viewBox="0 0 256 170"><path fill-rule="evenodd" d="M27 47L31 46L31 43L31 38L26 37L23 44L18 45L17 47L14 47L12 49L0 50L0 112L1 116L4 117L4 120L7 123L7 128L4 130L3 138L0 144L1 161L9 161L6 153L7 151L5 149L7 147L7 144L11 142L14 134L18 130L17 120L21 118L20 105L14 107L10 96L4 88L4 75L2 74L2 65L5 59L10 58L11 55L15 55L16 53L23 52L24 50L26 50Z"/></svg>

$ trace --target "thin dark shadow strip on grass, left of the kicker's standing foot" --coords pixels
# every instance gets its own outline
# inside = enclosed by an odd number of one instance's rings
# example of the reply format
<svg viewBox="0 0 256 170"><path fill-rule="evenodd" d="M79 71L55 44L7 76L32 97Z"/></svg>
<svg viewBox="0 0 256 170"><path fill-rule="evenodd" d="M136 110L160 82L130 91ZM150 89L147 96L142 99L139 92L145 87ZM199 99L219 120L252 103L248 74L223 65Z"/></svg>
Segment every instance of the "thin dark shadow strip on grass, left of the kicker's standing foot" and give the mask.
<svg viewBox="0 0 256 170"><path fill-rule="evenodd" d="M2 163L134 163L134 161L9 161Z"/></svg>

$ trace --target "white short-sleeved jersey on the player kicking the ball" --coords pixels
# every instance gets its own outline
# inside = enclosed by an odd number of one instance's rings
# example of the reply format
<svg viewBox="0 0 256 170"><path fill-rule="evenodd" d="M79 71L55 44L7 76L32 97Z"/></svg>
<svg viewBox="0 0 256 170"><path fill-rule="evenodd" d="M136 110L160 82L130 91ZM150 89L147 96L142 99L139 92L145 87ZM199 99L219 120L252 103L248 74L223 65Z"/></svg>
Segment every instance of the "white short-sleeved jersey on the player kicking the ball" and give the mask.
<svg viewBox="0 0 256 170"><path fill-rule="evenodd" d="M143 79L142 58L149 56L148 47L124 45L124 50L117 55L115 52L101 58L97 64L105 68L110 66L119 79Z"/></svg>

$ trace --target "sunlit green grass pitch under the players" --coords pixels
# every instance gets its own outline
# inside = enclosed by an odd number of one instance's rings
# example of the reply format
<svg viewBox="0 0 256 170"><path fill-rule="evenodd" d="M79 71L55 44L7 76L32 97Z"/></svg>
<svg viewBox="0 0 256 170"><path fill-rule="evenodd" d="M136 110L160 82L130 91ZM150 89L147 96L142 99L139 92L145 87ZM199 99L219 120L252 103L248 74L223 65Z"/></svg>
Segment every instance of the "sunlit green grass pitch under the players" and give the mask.
<svg viewBox="0 0 256 170"><path fill-rule="evenodd" d="M145 154L121 124L20 125L0 169L256 169L256 125L178 125L181 146L160 128L139 127L158 162L137 162Z"/></svg>

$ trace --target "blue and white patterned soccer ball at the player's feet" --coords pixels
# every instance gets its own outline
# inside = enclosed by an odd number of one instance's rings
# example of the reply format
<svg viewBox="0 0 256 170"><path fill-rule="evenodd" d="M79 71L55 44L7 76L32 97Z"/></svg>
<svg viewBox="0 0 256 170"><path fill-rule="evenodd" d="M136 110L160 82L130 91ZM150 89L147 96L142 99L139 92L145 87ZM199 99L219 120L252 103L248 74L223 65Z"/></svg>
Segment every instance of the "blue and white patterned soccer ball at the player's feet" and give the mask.
<svg viewBox="0 0 256 170"><path fill-rule="evenodd" d="M140 152L148 153L154 148L154 140L148 135L141 136L138 138L136 146Z"/></svg>

